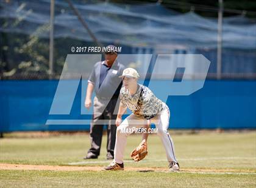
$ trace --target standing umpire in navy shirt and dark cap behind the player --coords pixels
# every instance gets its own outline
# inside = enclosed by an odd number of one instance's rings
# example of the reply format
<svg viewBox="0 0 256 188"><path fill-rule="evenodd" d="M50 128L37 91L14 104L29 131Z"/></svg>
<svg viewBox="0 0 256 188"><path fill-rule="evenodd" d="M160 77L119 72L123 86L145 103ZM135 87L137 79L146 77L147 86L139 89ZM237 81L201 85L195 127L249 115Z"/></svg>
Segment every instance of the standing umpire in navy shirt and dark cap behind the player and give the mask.
<svg viewBox="0 0 256 188"><path fill-rule="evenodd" d="M114 111L119 107L118 96L123 82L118 76L122 75L124 65L116 60L118 53L114 45L108 45L107 49L104 55L105 61L96 62L88 78L85 98L87 109L91 107L93 90L96 96L93 99L93 119L90 126L91 148L84 159L98 158L101 150L103 123L107 124L107 159L114 158L116 140L116 113L114 114Z"/></svg>

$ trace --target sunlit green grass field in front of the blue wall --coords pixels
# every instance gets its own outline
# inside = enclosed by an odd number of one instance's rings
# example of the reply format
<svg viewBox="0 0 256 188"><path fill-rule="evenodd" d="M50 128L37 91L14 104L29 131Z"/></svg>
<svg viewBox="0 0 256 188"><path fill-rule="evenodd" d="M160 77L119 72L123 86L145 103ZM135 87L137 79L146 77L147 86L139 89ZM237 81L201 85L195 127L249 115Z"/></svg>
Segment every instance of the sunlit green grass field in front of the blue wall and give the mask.
<svg viewBox="0 0 256 188"><path fill-rule="evenodd" d="M172 131L170 132L172 135ZM82 159L90 145L88 135L61 135L43 138L0 139L0 163L57 166L105 166L106 137L98 159ZM0 170L0 187L256 187L256 132L205 132L174 134L176 158L181 172L170 173L160 139L150 135L149 154L139 163L129 153L140 143L139 135L129 136L125 167L135 170L56 171ZM153 170L139 171L151 168ZM155 168L161 168L158 172Z"/></svg>

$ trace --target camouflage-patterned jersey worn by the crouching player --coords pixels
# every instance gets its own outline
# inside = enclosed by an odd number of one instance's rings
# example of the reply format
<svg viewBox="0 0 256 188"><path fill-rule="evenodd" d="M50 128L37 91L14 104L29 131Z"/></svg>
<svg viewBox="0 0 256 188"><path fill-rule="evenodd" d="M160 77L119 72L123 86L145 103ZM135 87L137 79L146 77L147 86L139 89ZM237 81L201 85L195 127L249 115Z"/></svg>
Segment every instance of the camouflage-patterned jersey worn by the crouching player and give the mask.
<svg viewBox="0 0 256 188"><path fill-rule="evenodd" d="M154 93L146 87L138 84L137 92L130 95L124 87L120 90L121 106L128 107L139 118L151 119L163 110L163 102L155 97Z"/></svg>

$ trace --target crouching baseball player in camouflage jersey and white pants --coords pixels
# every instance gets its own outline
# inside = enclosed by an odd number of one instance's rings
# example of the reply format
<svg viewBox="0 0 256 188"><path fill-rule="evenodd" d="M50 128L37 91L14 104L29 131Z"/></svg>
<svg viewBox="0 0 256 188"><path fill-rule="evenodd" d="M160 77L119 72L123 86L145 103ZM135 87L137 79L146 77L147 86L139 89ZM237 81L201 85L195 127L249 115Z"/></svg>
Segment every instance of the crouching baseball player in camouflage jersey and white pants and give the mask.
<svg viewBox="0 0 256 188"><path fill-rule="evenodd" d="M155 97L154 93L141 84L137 83L139 77L137 71L132 68L124 69L123 75L124 87L120 90L120 106L116 118L116 144L114 149L114 159L104 170L124 170L123 156L126 147L127 136L130 133L124 132L132 127L140 128L143 125L154 123L157 127L157 135L160 136L165 147L166 156L169 162L170 171L179 171L179 163L174 155L174 144L168 133L169 127L169 108L160 99ZM132 111L121 123L122 115L127 107ZM146 142L146 137L143 136Z"/></svg>

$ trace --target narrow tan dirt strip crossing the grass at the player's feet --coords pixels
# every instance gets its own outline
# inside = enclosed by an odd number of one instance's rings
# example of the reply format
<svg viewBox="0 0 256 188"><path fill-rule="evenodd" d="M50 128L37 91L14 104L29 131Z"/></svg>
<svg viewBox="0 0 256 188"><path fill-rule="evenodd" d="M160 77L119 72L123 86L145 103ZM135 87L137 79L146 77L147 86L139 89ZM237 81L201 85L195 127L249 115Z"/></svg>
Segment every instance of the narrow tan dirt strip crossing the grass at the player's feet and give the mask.
<svg viewBox="0 0 256 188"><path fill-rule="evenodd" d="M54 170L54 171L101 171L102 166L49 166L49 165L31 165L31 164L7 164L1 163L0 170ZM152 167L125 167L126 171L137 172L168 172L166 168ZM256 174L252 170L235 170L235 169L182 169L184 173L237 173L237 174Z"/></svg>

